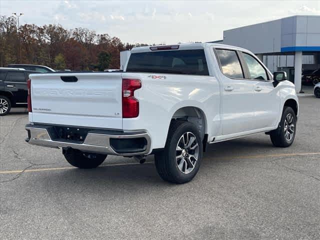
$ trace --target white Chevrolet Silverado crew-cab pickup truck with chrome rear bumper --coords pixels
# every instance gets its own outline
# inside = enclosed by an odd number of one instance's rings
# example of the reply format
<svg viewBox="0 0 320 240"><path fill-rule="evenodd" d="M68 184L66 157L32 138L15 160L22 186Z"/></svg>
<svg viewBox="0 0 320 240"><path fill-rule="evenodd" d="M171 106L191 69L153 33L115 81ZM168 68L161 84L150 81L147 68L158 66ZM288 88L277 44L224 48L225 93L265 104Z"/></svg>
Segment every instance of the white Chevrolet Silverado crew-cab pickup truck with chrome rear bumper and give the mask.
<svg viewBox="0 0 320 240"><path fill-rule="evenodd" d="M123 72L31 74L27 142L62 148L80 168L107 154L155 155L166 181L190 181L208 143L295 136L298 98L250 51L222 44L136 47Z"/></svg>

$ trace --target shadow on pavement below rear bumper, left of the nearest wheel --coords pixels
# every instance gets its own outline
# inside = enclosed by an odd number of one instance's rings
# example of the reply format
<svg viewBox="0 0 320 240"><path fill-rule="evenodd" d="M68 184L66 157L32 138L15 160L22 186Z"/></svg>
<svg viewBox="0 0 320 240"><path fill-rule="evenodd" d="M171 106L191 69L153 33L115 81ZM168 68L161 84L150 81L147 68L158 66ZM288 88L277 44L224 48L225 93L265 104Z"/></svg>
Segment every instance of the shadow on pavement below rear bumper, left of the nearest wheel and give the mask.
<svg viewBox="0 0 320 240"><path fill-rule="evenodd" d="M146 190L152 186L168 186L157 174L153 162L137 165L106 165L95 169L67 169L41 176L43 191L54 189L58 192L122 191L131 192Z"/></svg>

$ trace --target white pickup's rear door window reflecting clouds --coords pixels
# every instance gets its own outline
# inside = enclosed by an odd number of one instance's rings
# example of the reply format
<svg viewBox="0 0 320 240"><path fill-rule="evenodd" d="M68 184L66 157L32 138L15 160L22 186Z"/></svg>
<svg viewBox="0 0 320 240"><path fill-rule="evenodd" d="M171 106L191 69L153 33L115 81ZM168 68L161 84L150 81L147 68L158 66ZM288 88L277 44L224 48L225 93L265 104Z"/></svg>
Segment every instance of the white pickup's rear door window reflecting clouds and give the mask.
<svg viewBox="0 0 320 240"><path fill-rule="evenodd" d="M243 78L239 57L234 50L215 49L220 62L221 71L224 75L232 78Z"/></svg>

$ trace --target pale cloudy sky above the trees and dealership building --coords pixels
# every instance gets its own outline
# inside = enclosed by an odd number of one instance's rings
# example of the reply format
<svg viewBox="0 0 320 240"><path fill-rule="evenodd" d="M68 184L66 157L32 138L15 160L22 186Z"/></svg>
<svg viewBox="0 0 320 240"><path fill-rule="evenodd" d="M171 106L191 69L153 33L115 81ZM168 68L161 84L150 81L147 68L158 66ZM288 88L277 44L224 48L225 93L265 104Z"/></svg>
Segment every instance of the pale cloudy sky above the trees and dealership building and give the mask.
<svg viewBox="0 0 320 240"><path fill-rule="evenodd" d="M320 0L0 0L0 15L12 12L23 12L20 24L58 23L123 42L174 44L219 40L223 30L291 15L320 15Z"/></svg>

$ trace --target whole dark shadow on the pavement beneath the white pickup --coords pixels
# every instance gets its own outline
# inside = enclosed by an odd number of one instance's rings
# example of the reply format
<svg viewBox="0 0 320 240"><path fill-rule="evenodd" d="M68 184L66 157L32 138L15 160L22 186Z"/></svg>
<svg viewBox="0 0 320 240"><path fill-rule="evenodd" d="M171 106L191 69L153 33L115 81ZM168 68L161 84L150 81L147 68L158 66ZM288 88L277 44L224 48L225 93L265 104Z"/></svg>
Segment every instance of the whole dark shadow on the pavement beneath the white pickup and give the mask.
<svg viewBox="0 0 320 240"><path fill-rule="evenodd" d="M257 150L269 150L272 144L266 139L236 139L229 142L216 143L209 146L205 152L199 174L195 179L187 184L198 184L197 180L204 175L210 175L210 171L221 171L225 165L230 162L242 164L237 159L238 155L257 154ZM258 150L259 151L259 150ZM248 153L249 152L249 153ZM223 158L221 158L223 157ZM43 176L41 182L45 184L45 188L58 188L59 191L73 191L74 189L87 189L92 191L101 191L105 189L123 188L128 191L136 191L141 189L158 187L176 187L178 185L163 181L156 172L153 163L153 157L149 157L144 164L128 164L128 165L101 165L94 169L66 169L61 171L52 171L49 176ZM253 160L253 159L252 159Z"/></svg>

